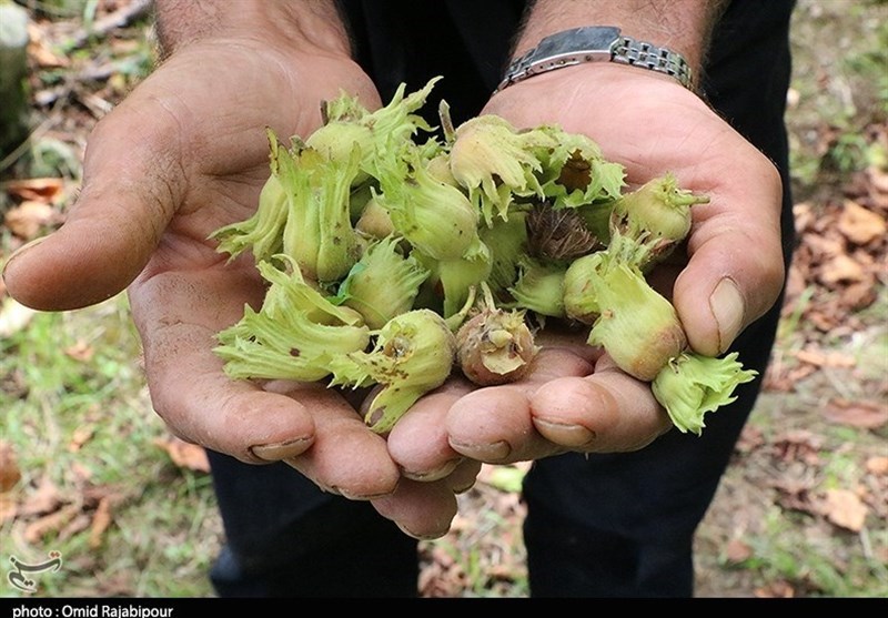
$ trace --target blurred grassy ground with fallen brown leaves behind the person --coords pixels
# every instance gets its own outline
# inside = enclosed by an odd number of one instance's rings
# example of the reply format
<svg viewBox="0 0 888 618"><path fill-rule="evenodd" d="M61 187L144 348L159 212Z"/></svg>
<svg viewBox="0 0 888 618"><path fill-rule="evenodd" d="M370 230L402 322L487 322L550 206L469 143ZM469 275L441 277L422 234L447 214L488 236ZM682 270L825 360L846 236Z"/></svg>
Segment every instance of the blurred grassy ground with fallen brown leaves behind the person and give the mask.
<svg viewBox="0 0 888 618"><path fill-rule="evenodd" d="M799 0L793 28L799 243L698 595L888 597L888 3ZM0 0L0 267L64 222L91 128L155 60L149 0ZM125 295L36 313L0 282L0 596L213 595L206 458L154 415L140 355ZM422 544L423 595L527 595L525 472L485 467ZM9 577L50 559L30 590Z"/></svg>

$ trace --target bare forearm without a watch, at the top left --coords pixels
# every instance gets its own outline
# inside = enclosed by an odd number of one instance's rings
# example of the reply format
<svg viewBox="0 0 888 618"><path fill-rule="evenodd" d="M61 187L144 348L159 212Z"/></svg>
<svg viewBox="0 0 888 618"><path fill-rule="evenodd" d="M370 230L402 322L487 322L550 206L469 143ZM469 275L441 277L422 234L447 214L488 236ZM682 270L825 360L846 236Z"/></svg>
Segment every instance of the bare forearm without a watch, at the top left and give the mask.
<svg viewBox="0 0 888 618"><path fill-rule="evenodd" d="M155 0L161 55L209 38L279 41L330 53L350 53L334 0Z"/></svg>

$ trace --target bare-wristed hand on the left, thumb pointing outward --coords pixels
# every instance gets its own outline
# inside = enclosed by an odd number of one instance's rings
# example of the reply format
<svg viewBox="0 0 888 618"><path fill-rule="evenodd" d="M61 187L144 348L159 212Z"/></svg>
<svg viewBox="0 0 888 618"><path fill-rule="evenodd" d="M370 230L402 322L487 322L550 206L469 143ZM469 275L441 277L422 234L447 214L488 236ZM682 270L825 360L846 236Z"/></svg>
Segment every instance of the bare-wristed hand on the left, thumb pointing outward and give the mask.
<svg viewBox="0 0 888 618"><path fill-rule="evenodd" d="M233 382L212 352L214 335L264 290L249 259L226 264L206 239L254 211L269 176L265 125L307 135L320 102L341 89L380 104L345 57L250 38L174 52L97 125L67 223L12 257L4 278L19 301L50 311L129 285L152 402L172 432L243 462L285 460L326 490L374 500L415 536L437 536L477 464L402 483L385 440L337 392Z"/></svg>

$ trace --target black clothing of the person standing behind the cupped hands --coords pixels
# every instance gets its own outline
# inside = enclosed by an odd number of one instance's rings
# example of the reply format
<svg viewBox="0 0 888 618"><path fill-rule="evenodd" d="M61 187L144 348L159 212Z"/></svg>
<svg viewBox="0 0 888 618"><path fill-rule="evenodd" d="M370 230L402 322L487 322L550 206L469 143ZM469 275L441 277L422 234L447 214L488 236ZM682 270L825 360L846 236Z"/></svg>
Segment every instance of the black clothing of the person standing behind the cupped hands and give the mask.
<svg viewBox="0 0 888 618"><path fill-rule="evenodd" d="M433 95L454 121L476 115L502 77L523 2L341 2L355 58L383 100L445 78ZM703 88L710 104L779 168L784 254L793 244L784 105L789 85L789 0L735 1L714 37ZM428 109L436 113L437 101ZM436 118L430 119L436 123ZM593 135L594 139L594 135ZM764 375L779 303L737 340ZM524 487L531 591L539 597L692 596L693 535L749 415L760 378L707 415L702 437L670 432L627 454L536 462ZM211 454L228 547L221 595L415 596L416 543L366 503L322 494L284 465L249 466Z"/></svg>

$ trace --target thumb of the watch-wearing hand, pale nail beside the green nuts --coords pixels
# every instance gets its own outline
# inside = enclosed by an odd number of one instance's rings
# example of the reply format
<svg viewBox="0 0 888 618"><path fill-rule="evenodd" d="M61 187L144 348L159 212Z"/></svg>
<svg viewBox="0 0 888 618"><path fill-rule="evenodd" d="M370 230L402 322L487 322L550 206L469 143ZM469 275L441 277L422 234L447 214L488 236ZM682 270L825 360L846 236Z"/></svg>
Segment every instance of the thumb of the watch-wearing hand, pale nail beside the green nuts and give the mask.
<svg viewBox="0 0 888 618"><path fill-rule="evenodd" d="M780 179L760 154L751 159L748 170L731 174L755 183L729 195L715 192L709 204L696 209L690 261L675 282L673 303L688 343L708 356L727 351L764 315L784 283Z"/></svg>

